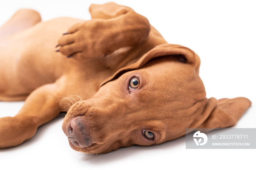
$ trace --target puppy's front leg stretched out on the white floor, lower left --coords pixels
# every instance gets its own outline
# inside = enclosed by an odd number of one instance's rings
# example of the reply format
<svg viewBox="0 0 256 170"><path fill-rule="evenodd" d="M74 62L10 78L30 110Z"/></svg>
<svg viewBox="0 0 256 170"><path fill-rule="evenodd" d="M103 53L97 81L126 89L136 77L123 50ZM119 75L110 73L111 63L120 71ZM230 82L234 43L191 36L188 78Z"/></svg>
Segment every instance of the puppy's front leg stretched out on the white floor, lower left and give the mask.
<svg viewBox="0 0 256 170"><path fill-rule="evenodd" d="M37 128L57 117L61 110L57 85L47 84L33 91L14 117L0 118L0 149L17 146L32 138Z"/></svg>

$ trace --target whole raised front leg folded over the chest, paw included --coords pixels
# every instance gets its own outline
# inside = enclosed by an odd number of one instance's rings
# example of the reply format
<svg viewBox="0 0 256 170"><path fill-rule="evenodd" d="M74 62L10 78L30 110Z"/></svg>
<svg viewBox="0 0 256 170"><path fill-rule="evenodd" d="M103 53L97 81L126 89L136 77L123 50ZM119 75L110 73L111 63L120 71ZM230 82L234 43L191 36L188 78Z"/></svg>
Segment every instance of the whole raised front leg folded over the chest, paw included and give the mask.
<svg viewBox="0 0 256 170"><path fill-rule="evenodd" d="M107 3L91 5L92 20L73 25L59 39L59 51L75 59L105 56L133 47L150 32L148 20L131 8Z"/></svg>

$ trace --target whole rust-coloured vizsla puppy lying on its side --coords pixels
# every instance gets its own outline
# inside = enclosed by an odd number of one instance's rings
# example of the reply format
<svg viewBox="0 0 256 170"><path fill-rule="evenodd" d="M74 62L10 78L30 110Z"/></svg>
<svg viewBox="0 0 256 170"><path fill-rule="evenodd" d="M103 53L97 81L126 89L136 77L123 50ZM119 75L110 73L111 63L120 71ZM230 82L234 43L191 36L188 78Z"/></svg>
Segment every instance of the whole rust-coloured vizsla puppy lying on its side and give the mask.
<svg viewBox="0 0 256 170"><path fill-rule="evenodd" d="M0 100L25 100L16 116L0 118L1 149L32 138L63 111L74 150L108 153L170 141L185 128L234 126L251 105L207 99L195 52L168 44L131 8L89 10L89 21L42 22L22 9L0 28Z"/></svg>

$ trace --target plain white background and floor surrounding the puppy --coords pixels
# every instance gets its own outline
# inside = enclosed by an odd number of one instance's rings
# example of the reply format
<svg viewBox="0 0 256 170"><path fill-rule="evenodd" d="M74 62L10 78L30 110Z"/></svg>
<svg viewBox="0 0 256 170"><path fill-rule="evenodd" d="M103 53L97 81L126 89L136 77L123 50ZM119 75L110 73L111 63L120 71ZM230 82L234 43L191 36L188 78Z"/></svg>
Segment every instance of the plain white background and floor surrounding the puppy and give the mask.
<svg viewBox="0 0 256 170"><path fill-rule="evenodd" d="M61 16L89 20L89 5L106 2L108 1L1 0L0 24L7 21L19 8L37 10L41 13L42 20ZM115 2L146 16L169 43L189 47L199 55L200 77L208 98L249 98L252 106L235 128L256 128L256 4L253 1ZM0 102L0 116L14 116L22 105L23 102ZM255 168L255 149L189 150L185 149L185 137L158 146L132 146L90 157L90 154L79 153L69 147L61 130L62 118L40 127L35 137L22 145L0 150L0 169Z"/></svg>

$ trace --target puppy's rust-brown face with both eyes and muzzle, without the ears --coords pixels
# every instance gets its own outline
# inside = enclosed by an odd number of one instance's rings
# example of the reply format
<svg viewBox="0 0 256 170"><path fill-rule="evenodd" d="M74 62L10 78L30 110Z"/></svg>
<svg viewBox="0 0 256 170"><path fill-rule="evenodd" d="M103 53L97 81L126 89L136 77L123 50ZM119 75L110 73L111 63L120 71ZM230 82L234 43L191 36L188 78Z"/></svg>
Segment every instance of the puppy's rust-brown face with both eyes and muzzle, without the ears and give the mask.
<svg viewBox="0 0 256 170"><path fill-rule="evenodd" d="M183 57L183 56L182 56ZM131 145L154 145L184 135L189 109L205 98L202 80L185 58L158 57L108 81L68 111L63 131L70 146L107 153Z"/></svg>

